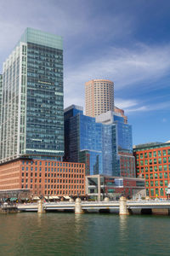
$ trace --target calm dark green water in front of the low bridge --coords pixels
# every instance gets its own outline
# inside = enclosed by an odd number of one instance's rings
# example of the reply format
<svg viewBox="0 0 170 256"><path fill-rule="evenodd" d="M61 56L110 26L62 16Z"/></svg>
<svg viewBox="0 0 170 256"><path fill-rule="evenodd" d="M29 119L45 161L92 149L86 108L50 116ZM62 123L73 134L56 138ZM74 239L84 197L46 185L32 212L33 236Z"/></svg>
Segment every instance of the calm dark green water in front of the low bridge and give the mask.
<svg viewBox="0 0 170 256"><path fill-rule="evenodd" d="M0 256L170 255L170 217L0 215Z"/></svg>

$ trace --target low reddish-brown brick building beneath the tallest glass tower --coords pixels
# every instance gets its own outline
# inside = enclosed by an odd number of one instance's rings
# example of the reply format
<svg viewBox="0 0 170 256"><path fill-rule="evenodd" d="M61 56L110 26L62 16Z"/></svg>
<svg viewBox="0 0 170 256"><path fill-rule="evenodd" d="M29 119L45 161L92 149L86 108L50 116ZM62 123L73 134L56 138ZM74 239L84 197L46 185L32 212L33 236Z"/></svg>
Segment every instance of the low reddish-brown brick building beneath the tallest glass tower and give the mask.
<svg viewBox="0 0 170 256"><path fill-rule="evenodd" d="M0 194L85 195L85 165L56 160L17 159L0 166Z"/></svg>

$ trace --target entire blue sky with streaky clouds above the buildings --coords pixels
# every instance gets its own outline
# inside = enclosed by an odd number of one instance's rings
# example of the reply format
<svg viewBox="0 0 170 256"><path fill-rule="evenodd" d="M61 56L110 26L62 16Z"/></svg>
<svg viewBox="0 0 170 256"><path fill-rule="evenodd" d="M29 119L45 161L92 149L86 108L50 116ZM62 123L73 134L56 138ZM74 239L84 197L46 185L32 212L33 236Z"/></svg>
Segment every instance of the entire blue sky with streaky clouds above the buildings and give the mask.
<svg viewBox="0 0 170 256"><path fill-rule="evenodd" d="M0 73L26 27L63 37L65 108L110 79L133 144L170 140L169 0L0 0Z"/></svg>

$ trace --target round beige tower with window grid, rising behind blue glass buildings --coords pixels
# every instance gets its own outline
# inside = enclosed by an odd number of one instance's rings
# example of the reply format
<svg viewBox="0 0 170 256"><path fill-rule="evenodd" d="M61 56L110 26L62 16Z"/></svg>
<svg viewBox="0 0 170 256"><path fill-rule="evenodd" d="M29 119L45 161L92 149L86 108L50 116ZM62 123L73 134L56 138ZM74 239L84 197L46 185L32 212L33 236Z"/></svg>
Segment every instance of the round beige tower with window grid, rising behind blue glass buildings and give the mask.
<svg viewBox="0 0 170 256"><path fill-rule="evenodd" d="M114 111L114 83L106 79L93 79L85 84L86 115L96 117Z"/></svg>

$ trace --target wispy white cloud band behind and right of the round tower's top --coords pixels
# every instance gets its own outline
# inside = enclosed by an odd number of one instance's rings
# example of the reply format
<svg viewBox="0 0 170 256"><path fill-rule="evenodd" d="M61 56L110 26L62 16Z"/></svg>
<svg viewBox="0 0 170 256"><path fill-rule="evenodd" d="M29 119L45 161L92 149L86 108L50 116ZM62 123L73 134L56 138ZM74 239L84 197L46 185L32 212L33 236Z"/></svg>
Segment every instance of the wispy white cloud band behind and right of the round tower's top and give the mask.
<svg viewBox="0 0 170 256"><path fill-rule="evenodd" d="M152 81L152 86L156 88L153 82L169 73L169 69L168 44L139 44L134 49L111 48L107 52L101 50L95 60L89 55L86 63L74 69L70 66L65 70L65 102L71 98L72 92L77 100L84 97L84 83L90 79L111 79L115 82L115 90L122 90L127 86L138 90L139 84L146 81L145 86Z"/></svg>

